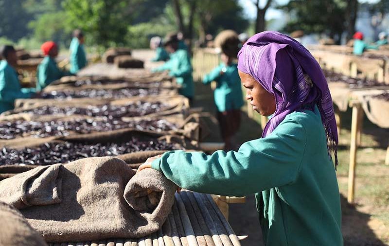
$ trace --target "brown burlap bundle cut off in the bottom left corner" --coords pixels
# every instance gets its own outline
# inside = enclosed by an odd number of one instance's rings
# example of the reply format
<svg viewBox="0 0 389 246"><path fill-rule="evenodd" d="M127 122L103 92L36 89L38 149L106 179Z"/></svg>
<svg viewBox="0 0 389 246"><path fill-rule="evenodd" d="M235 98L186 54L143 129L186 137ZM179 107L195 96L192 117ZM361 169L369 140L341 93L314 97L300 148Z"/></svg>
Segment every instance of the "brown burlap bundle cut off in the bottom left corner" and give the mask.
<svg viewBox="0 0 389 246"><path fill-rule="evenodd" d="M1 246L46 246L40 236L11 205L0 202Z"/></svg>

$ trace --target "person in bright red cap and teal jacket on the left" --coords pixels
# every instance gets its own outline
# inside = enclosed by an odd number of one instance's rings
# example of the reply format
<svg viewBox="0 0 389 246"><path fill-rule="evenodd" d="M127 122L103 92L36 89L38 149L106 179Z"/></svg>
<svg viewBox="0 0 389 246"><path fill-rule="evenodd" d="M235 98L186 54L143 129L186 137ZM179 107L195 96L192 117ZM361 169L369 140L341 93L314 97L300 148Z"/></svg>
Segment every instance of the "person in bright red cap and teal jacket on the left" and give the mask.
<svg viewBox="0 0 389 246"><path fill-rule="evenodd" d="M60 79L63 76L71 75L71 73L62 71L58 68L55 62L55 57L58 55L58 46L53 41L48 41L40 47L45 58L39 64L36 70L36 90L40 91L47 87L54 80Z"/></svg>

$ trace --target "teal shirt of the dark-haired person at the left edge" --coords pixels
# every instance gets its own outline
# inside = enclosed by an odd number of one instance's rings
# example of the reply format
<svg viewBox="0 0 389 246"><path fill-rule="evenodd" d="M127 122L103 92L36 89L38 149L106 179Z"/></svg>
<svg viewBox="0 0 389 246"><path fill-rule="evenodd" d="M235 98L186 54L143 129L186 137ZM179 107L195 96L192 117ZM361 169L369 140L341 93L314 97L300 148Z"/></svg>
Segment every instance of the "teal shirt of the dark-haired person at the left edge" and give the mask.
<svg viewBox="0 0 389 246"><path fill-rule="evenodd" d="M18 74L6 60L0 61L0 113L14 109L18 98L31 98L34 88L21 88Z"/></svg>

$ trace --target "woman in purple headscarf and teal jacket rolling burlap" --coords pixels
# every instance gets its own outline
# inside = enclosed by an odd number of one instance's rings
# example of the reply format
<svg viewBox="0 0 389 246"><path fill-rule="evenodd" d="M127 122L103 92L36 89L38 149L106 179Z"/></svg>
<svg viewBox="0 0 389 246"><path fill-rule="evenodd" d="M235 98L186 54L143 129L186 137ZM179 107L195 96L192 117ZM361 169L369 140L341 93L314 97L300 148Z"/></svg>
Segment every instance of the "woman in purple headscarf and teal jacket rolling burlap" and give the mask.
<svg viewBox="0 0 389 246"><path fill-rule="evenodd" d="M238 54L253 109L268 116L262 138L237 152L170 151L150 158L179 187L230 196L255 193L265 245L341 246L337 132L326 79L296 40L263 32ZM253 129L255 131L257 129Z"/></svg>

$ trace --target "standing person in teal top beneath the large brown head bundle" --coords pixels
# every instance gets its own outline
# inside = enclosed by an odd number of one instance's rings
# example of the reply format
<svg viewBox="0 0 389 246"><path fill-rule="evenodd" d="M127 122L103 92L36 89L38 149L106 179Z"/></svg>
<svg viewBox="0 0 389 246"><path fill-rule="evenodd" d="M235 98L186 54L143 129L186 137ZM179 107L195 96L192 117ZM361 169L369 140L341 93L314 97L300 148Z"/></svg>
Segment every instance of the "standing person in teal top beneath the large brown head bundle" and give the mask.
<svg viewBox="0 0 389 246"><path fill-rule="evenodd" d="M222 53L222 63L205 75L203 79L203 84L210 84L212 81L217 83L213 96L225 150L234 149L231 139L239 129L240 108L244 104L238 64L234 62L238 51L237 47L234 57Z"/></svg>

